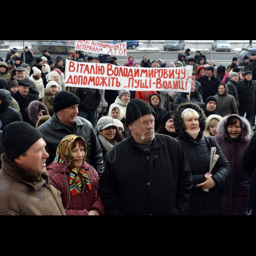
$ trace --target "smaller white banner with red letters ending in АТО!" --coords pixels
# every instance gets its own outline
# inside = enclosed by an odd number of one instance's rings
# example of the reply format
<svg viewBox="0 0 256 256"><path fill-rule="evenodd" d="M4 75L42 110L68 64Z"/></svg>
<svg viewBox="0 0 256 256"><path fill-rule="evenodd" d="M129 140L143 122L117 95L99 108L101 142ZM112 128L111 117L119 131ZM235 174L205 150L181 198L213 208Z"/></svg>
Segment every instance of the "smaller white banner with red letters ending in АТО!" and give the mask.
<svg viewBox="0 0 256 256"><path fill-rule="evenodd" d="M76 40L75 48L78 51L84 52L127 56L127 42L120 44L105 44L94 40Z"/></svg>

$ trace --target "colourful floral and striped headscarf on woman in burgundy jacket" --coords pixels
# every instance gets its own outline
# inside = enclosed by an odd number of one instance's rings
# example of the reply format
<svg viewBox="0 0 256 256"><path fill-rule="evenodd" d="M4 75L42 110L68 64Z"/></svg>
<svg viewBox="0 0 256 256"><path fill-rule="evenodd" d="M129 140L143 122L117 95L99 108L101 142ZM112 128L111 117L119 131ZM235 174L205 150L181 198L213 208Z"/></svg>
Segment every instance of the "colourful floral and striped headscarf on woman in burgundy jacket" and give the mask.
<svg viewBox="0 0 256 256"><path fill-rule="evenodd" d="M82 167L77 168L75 165L74 156L72 153L73 144L76 139L82 139L84 142L84 159L83 163L85 162L86 155L87 155L87 145L85 140L82 137L75 136L75 135L68 135L65 136L61 143L59 144L56 152L56 158L54 159L53 163L65 163L65 165L70 166L71 173L69 177L69 185L70 185L70 192L72 196L76 196L81 192L82 181L84 181L89 189L91 190L90 180L89 177Z"/></svg>

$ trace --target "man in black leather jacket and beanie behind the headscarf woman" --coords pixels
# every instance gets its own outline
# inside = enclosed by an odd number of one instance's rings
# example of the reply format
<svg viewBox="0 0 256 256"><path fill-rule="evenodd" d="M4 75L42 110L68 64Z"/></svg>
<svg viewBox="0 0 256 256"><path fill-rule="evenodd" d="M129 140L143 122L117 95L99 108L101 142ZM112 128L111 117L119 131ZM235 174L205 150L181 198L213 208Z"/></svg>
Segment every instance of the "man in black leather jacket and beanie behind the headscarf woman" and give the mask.
<svg viewBox="0 0 256 256"><path fill-rule="evenodd" d="M73 93L60 91L53 100L53 117L38 127L47 144L49 158L46 165L53 162L56 150L61 140L67 135L77 135L86 141L86 162L97 170L99 176L103 173L102 151L96 133L89 121L78 117L79 99Z"/></svg>

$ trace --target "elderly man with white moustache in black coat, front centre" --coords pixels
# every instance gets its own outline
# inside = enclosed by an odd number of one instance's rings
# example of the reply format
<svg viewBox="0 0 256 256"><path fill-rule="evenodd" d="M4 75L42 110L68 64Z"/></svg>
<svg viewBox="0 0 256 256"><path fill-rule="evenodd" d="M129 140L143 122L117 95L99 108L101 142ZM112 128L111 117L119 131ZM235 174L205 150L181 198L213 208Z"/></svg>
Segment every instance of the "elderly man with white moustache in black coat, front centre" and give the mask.
<svg viewBox="0 0 256 256"><path fill-rule="evenodd" d="M181 144L154 133L154 117L141 99L128 103L131 136L106 154L99 181L109 215L188 215L191 171Z"/></svg>

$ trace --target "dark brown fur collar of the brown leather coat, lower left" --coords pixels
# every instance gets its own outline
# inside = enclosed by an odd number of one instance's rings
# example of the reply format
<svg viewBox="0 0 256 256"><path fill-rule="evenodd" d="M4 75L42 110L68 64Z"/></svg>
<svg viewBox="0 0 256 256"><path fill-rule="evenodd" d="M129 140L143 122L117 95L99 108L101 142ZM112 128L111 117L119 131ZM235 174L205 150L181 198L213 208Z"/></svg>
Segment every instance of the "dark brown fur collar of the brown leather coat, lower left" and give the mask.
<svg viewBox="0 0 256 256"><path fill-rule="evenodd" d="M20 181L23 181L25 183L28 183L32 185L32 187L41 187L45 181L48 181L48 173L45 172L41 176L38 176L37 174L30 172L27 169L24 169L23 167L17 165L16 163L10 161L5 154L3 153L1 155L1 160L3 164L9 169L11 172L15 173L16 176Z"/></svg>

